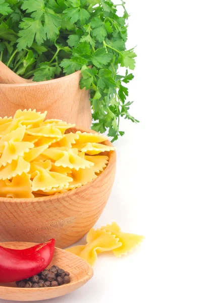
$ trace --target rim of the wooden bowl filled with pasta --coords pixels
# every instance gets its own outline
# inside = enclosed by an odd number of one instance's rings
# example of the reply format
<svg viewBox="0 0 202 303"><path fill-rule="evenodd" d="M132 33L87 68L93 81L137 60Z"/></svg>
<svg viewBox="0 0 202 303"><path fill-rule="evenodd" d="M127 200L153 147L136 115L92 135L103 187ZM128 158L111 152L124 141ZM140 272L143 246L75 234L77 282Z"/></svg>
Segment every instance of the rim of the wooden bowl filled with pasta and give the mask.
<svg viewBox="0 0 202 303"><path fill-rule="evenodd" d="M69 128L67 131L68 131L68 133L69 132L75 132L75 131L88 132L88 133L97 133L96 131L94 131L92 129L85 129L85 128L81 128L79 126ZM109 140L103 141L102 143L105 144L105 145L108 145L108 146L113 146L113 144ZM111 170L113 165L116 164L116 151L111 150L108 153L109 153L108 154L109 161L108 161L108 165L105 168L105 170L103 172L101 172L97 176L97 178L88 182L85 185L82 185L81 187L78 187L78 188L75 188L73 190L63 192L63 193L59 193L59 194L47 195L47 196L41 196L41 197L33 197L33 198L5 198L5 197L0 196L0 205L1 205L1 203L37 203L37 202L40 202L40 201L41 202L42 201L43 202L51 201L51 200L59 199L60 197L67 197L67 196L71 196L73 194L78 194L80 191L83 191L84 188L86 190L88 190L88 187L93 185L95 182L99 182L100 177L105 177L105 175L108 174L108 172Z"/></svg>

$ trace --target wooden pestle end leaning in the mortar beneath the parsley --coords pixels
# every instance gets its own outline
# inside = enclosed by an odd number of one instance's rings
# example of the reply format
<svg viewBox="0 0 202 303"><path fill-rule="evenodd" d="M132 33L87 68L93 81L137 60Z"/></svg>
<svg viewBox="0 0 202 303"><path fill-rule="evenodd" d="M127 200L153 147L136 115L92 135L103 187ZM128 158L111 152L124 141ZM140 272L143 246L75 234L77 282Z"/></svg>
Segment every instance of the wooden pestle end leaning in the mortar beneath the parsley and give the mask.
<svg viewBox="0 0 202 303"><path fill-rule="evenodd" d="M25 84L32 80L23 79L8 68L2 61L0 61L0 83L2 84Z"/></svg>

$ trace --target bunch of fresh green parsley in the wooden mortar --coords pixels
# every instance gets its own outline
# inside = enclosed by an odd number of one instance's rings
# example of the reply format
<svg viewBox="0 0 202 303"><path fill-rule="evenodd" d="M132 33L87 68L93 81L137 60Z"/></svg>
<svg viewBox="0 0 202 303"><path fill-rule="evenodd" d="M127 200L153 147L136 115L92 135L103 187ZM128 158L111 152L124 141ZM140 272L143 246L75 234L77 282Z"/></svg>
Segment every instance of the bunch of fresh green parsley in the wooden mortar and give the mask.
<svg viewBox="0 0 202 303"><path fill-rule="evenodd" d="M92 128L124 132L120 117L138 122L128 110L134 49L126 50L129 17L125 3L111 0L0 0L0 60L15 73L43 81L81 70L80 87L90 89ZM117 15L117 6L124 14ZM118 74L125 67L125 75Z"/></svg>

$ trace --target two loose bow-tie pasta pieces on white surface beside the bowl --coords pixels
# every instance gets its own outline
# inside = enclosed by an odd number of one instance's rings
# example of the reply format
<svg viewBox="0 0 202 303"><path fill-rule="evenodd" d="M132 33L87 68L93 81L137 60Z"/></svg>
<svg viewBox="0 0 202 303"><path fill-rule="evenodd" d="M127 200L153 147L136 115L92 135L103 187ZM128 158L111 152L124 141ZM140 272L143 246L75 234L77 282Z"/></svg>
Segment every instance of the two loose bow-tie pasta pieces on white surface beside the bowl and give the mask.
<svg viewBox="0 0 202 303"><path fill-rule="evenodd" d="M93 266L101 252L113 251L114 255L120 258L131 252L143 239L143 236L122 232L119 225L113 222L96 230L91 228L85 245L72 246L66 250Z"/></svg>

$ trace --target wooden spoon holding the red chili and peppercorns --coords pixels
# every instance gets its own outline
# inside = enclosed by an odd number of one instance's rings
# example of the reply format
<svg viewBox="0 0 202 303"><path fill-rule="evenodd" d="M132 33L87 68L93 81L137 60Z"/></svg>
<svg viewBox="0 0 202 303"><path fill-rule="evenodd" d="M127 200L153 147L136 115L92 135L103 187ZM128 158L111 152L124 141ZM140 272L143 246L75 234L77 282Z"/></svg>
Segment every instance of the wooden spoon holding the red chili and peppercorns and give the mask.
<svg viewBox="0 0 202 303"><path fill-rule="evenodd" d="M24 249L35 245L28 242L8 242L0 245L14 249ZM14 301L37 301L51 299L67 294L84 285L93 276L91 266L81 258L66 250L56 248L51 264L70 273L71 282L57 287L47 288L18 288L16 283L0 283L0 298Z"/></svg>

